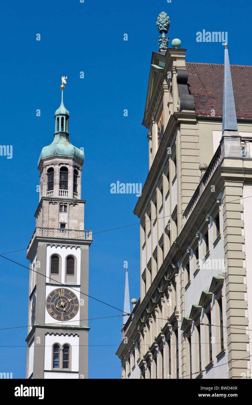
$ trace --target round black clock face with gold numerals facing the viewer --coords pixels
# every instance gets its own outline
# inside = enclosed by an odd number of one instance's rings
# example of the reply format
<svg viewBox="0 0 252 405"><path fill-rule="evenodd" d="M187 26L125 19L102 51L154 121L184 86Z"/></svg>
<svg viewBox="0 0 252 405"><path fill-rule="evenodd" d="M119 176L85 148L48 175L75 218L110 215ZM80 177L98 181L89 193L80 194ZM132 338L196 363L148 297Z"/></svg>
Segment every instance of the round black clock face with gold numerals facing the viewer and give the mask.
<svg viewBox="0 0 252 405"><path fill-rule="evenodd" d="M68 288L56 288L47 296L46 307L54 319L68 321L78 312L79 301Z"/></svg>

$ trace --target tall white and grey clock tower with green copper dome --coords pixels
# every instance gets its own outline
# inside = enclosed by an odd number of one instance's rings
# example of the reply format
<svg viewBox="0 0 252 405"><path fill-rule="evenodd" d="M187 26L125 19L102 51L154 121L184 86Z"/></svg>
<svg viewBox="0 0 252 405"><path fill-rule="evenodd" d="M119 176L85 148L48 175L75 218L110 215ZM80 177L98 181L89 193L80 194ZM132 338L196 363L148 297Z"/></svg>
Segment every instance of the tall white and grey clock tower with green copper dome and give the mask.
<svg viewBox="0 0 252 405"><path fill-rule="evenodd" d="M88 276L92 232L84 230L84 153L69 140L69 112L55 112L51 145L38 159L36 228L30 261L26 378L87 378Z"/></svg>

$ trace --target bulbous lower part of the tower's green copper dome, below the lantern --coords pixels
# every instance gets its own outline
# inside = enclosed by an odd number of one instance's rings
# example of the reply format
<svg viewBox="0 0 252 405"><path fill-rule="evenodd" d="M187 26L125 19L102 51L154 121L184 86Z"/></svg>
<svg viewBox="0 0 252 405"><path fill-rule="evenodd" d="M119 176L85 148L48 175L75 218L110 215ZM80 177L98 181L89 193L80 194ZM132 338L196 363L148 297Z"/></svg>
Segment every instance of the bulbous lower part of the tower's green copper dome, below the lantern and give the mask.
<svg viewBox="0 0 252 405"><path fill-rule="evenodd" d="M68 139L68 136L69 135L67 132L56 132L51 145L43 147L38 159L38 165L42 158L47 158L53 155L74 156L84 162L83 151L72 145Z"/></svg>

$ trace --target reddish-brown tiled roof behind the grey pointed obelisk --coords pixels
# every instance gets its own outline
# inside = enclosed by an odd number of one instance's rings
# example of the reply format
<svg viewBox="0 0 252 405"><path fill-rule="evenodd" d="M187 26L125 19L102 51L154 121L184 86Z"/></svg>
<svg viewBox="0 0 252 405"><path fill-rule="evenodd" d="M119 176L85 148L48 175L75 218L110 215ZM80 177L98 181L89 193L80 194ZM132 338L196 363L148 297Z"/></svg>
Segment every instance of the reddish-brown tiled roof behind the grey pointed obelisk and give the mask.
<svg viewBox="0 0 252 405"><path fill-rule="evenodd" d="M252 66L230 65L237 118L252 118ZM224 65L186 62L188 90L198 115L222 116Z"/></svg>

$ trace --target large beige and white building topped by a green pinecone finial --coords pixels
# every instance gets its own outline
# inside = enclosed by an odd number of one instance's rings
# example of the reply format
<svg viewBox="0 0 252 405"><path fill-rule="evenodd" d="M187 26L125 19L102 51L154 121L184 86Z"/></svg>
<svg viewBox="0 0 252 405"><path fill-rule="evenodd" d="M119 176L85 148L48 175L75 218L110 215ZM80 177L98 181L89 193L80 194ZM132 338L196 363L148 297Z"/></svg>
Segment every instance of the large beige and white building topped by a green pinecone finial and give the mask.
<svg viewBox="0 0 252 405"><path fill-rule="evenodd" d="M178 43L152 53L140 298L116 354L122 378L250 378L252 66L227 49L224 65L186 62Z"/></svg>

